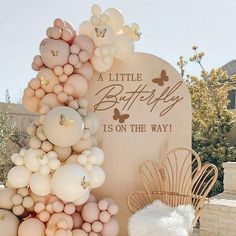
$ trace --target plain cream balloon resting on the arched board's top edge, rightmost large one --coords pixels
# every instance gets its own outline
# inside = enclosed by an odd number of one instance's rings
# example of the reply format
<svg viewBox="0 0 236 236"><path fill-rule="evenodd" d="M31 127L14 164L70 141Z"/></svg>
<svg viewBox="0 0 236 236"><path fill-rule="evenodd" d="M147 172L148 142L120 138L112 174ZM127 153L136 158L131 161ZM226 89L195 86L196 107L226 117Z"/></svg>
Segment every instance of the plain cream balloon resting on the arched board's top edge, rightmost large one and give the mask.
<svg viewBox="0 0 236 236"><path fill-rule="evenodd" d="M114 57L125 60L134 52L134 42L124 34L118 35L115 39L116 53Z"/></svg>

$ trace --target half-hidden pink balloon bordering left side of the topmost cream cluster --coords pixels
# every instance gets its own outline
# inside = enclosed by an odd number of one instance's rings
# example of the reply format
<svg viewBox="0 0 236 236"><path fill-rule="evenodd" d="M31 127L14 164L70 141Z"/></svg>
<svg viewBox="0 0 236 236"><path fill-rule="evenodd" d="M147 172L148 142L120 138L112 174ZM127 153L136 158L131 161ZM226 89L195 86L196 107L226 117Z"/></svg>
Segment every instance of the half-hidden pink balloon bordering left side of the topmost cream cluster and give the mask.
<svg viewBox="0 0 236 236"><path fill-rule="evenodd" d="M86 51L89 55L89 58L93 55L94 43L93 40L86 35L78 35L74 38L73 43L79 45L80 50Z"/></svg>

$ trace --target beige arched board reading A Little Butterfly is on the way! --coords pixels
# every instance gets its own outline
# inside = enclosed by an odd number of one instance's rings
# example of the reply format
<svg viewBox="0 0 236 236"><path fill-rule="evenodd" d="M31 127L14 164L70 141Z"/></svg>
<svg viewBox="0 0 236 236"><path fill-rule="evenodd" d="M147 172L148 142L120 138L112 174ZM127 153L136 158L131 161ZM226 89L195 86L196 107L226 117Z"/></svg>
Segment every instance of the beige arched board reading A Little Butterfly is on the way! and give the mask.
<svg viewBox="0 0 236 236"><path fill-rule="evenodd" d="M134 53L96 73L87 96L100 119L99 146L105 152L105 184L96 196L119 205L120 236L127 235L127 195L142 190L140 164L158 160L177 146L191 147L191 99L179 73L164 60Z"/></svg>

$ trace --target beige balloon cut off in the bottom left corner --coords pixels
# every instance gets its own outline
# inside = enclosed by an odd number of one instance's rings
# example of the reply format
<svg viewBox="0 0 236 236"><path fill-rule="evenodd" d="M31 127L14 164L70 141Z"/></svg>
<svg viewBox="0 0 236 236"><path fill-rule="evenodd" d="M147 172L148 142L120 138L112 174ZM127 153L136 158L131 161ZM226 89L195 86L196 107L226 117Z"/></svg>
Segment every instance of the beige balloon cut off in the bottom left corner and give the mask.
<svg viewBox="0 0 236 236"><path fill-rule="evenodd" d="M0 235L18 236L19 219L11 211L0 209Z"/></svg>

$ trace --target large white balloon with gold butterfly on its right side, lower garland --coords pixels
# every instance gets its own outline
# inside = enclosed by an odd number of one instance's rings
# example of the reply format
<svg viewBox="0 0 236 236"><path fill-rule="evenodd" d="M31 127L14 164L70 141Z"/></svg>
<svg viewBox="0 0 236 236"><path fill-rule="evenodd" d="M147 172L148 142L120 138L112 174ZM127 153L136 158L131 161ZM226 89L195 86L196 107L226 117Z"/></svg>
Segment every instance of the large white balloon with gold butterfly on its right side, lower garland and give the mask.
<svg viewBox="0 0 236 236"><path fill-rule="evenodd" d="M87 171L77 164L60 167L52 177L52 191L63 201L74 202L83 198L89 187Z"/></svg>

